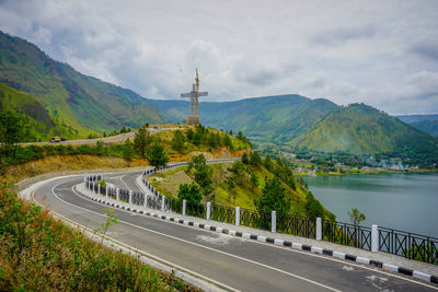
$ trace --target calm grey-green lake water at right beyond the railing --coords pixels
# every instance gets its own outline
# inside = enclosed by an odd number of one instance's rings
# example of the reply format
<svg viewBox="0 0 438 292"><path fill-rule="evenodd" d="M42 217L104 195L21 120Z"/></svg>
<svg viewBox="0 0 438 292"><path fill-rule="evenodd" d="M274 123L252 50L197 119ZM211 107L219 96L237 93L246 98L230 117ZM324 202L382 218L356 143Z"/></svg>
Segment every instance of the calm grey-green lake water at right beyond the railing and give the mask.
<svg viewBox="0 0 438 292"><path fill-rule="evenodd" d="M349 223L357 208L367 219L361 225L438 237L438 174L379 174L307 177L313 196Z"/></svg>

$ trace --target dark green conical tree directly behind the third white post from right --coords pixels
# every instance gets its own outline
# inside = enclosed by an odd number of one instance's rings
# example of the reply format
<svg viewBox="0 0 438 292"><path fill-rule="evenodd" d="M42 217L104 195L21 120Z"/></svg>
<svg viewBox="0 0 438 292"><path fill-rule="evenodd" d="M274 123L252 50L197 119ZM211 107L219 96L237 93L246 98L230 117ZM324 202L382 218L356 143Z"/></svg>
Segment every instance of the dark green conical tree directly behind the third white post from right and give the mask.
<svg viewBox="0 0 438 292"><path fill-rule="evenodd" d="M281 185L278 177L265 177L265 187L262 197L254 200L254 205L260 212L288 212L290 200L287 198L286 188Z"/></svg>

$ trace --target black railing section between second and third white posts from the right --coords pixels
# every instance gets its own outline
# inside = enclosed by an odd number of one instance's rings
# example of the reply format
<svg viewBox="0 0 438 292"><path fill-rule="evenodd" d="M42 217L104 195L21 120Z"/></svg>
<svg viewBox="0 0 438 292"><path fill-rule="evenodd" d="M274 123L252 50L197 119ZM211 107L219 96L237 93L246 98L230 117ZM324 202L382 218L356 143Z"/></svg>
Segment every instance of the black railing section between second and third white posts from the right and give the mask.
<svg viewBox="0 0 438 292"><path fill-rule="evenodd" d="M315 238L316 223L314 219L308 217L278 212L277 232L307 238Z"/></svg>

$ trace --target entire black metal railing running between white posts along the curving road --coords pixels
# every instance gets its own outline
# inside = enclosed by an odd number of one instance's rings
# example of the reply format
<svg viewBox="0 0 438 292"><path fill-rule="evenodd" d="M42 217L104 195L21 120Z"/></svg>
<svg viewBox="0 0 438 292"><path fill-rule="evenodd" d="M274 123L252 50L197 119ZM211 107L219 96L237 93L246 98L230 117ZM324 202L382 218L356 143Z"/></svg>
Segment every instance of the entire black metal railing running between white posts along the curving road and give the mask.
<svg viewBox="0 0 438 292"><path fill-rule="evenodd" d="M187 165L178 163L166 167L145 171L143 175L157 173L158 171ZM85 179L85 186L96 184L102 179L102 175L93 175ZM151 209L172 210L176 213L183 213L183 200L166 198L152 187L145 178L145 186L154 195L146 196L142 192L129 192L129 190L119 189L118 199L129 201L134 205L145 206ZM94 189L95 192L106 195L105 188ZM107 196L117 199L117 189L108 188ZM145 203L145 196L147 202ZM164 200L164 203L162 203ZM185 214L197 218L206 218L207 207L203 203L186 201ZM229 224L241 224L249 227L269 230L272 227L272 213L260 212L256 210L239 208L239 222L237 221L237 208L211 205L210 219ZM276 231L279 233L302 236L307 238L316 238L316 219L290 214L276 213L274 218ZM372 229L349 223L321 220L321 240L341 245L353 246L366 250L372 250ZM406 257L414 260L438 265L438 238L419 235L405 231L399 231L388 227L378 227L378 250L392 255Z"/></svg>

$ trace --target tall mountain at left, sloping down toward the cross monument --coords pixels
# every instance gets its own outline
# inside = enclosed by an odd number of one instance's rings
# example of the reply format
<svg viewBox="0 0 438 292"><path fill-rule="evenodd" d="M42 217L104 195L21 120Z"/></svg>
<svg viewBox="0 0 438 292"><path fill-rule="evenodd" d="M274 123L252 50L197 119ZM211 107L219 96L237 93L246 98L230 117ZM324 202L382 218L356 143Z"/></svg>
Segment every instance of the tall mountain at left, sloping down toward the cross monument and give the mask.
<svg viewBox="0 0 438 292"><path fill-rule="evenodd" d="M122 126L163 122L137 93L79 73L35 45L0 32L0 82L36 97L47 112L80 136Z"/></svg>

